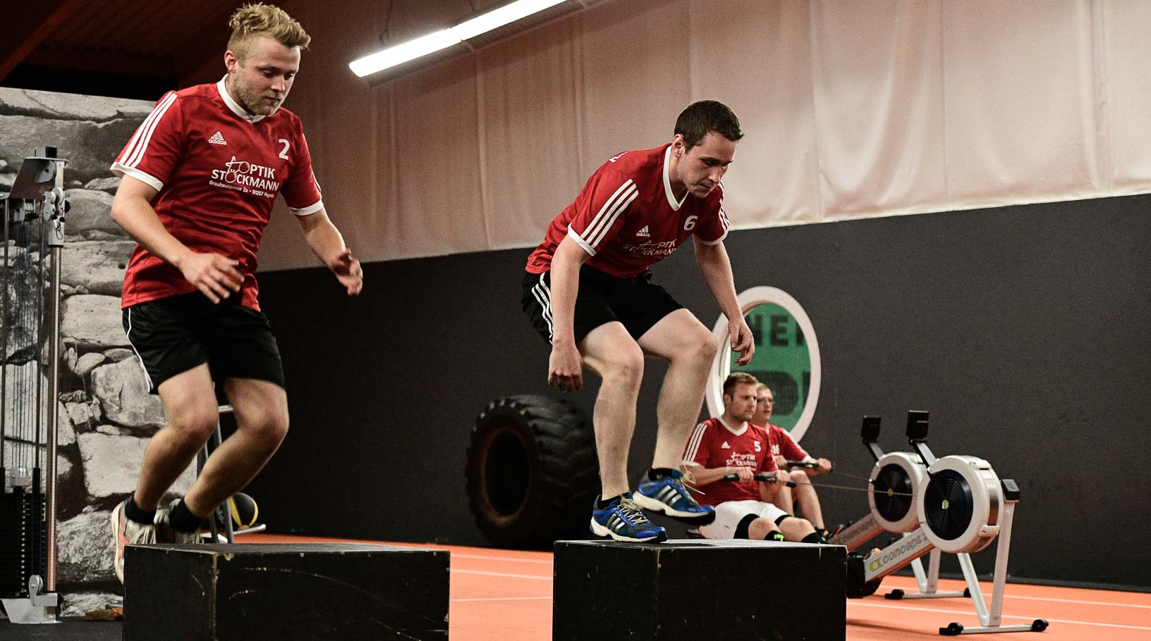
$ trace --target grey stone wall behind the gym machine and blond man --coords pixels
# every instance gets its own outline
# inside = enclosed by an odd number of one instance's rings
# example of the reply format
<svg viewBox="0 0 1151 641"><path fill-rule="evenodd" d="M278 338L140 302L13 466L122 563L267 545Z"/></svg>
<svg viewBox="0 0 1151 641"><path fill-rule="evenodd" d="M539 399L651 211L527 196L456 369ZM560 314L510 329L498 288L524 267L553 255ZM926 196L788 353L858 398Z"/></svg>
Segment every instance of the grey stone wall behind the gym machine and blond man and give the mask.
<svg viewBox="0 0 1151 641"><path fill-rule="evenodd" d="M122 590L112 571L109 515L135 488L147 440L165 422L160 400L147 393L121 326L120 286L136 244L109 216L120 180L108 165L151 109L151 102L138 100L0 87L0 191L12 186L21 162L36 147L54 146L60 157L68 159L56 571L66 616L120 603ZM9 244L9 263L17 254L18 248ZM39 261L38 255L30 258ZM8 281L8 268L3 270ZM9 295L14 293L9 284ZM0 314L2 331L10 338L26 335L22 333L30 329L10 309ZM21 376L24 381L35 380L37 364L13 355L10 348L5 368L5 424L10 427L13 404L21 393L16 380ZM47 370L40 368L40 374L44 380ZM3 447L5 459L10 462L13 439L5 439ZM191 479L189 470L173 492L182 494Z"/></svg>

